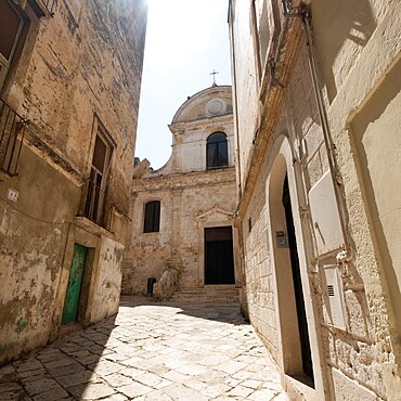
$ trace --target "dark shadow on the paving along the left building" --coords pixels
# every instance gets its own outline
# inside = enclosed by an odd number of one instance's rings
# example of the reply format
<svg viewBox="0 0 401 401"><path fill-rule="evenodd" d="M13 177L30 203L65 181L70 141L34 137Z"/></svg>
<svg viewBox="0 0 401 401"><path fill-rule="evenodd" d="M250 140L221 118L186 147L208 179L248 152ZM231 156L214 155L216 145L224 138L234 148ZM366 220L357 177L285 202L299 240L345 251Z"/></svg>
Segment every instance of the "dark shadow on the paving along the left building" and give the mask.
<svg viewBox="0 0 401 401"><path fill-rule="evenodd" d="M29 355L0 367L0 400L81 400L115 325L116 315L57 339ZM111 352L113 359L113 352ZM102 367L103 368L103 367ZM107 397L100 380L94 399Z"/></svg>

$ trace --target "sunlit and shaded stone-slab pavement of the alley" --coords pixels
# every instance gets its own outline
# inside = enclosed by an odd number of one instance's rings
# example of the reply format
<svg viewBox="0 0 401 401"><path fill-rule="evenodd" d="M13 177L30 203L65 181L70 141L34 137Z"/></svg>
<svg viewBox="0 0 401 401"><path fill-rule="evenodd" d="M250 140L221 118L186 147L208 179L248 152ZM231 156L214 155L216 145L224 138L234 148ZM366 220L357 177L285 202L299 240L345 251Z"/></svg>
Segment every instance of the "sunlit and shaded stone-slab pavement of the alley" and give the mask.
<svg viewBox="0 0 401 401"><path fill-rule="evenodd" d="M237 306L122 297L116 316L0 368L0 400L286 401Z"/></svg>

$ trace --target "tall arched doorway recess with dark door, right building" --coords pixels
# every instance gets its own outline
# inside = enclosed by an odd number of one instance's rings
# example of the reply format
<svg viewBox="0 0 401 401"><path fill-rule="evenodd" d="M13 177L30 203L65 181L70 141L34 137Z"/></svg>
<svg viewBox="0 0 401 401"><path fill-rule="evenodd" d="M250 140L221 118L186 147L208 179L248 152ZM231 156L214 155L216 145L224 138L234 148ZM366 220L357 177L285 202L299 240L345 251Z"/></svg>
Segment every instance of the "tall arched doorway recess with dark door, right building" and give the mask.
<svg viewBox="0 0 401 401"><path fill-rule="evenodd" d="M286 161L282 155L277 156L270 173L269 216L283 370L314 387L305 290Z"/></svg>

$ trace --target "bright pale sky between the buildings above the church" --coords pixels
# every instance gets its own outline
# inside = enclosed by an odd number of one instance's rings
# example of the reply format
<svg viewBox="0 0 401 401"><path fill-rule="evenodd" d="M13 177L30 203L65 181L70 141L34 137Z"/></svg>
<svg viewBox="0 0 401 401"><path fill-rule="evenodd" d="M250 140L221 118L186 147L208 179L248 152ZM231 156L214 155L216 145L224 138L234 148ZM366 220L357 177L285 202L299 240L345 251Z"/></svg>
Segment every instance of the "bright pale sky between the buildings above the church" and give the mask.
<svg viewBox="0 0 401 401"><path fill-rule="evenodd" d="M135 156L161 167L171 122L187 96L231 85L228 0L147 0L148 20Z"/></svg>

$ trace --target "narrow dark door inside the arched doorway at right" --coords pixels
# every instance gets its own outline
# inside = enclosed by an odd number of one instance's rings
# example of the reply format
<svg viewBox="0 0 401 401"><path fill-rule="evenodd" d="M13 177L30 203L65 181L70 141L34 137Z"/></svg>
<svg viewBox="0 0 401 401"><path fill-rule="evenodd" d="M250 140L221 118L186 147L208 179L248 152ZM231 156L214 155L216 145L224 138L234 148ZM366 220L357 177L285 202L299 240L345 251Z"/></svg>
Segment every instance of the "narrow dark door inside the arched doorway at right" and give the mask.
<svg viewBox="0 0 401 401"><path fill-rule="evenodd" d="M288 246L289 246L289 254L290 254L290 261L292 261L294 294L295 294L295 302L297 306L299 339L301 344L302 367L303 367L303 373L307 374L313 380L313 366L312 366L312 357L311 357L309 333L308 333L308 321L307 321L307 313L305 310L305 299L303 299L300 269L299 269L297 240L295 236L293 209L290 205L287 177L285 177L285 180L284 180L283 206L285 209L285 219L287 223Z"/></svg>

